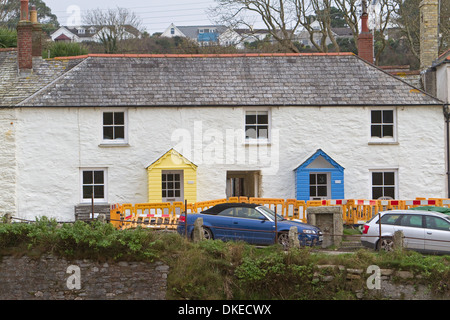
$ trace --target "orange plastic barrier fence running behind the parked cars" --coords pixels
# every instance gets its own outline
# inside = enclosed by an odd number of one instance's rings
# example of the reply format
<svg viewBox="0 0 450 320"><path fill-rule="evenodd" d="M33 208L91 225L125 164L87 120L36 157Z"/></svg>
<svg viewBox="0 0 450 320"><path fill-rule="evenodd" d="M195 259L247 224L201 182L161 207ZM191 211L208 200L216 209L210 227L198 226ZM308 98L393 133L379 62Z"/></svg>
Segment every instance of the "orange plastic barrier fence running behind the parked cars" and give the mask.
<svg viewBox="0 0 450 320"><path fill-rule="evenodd" d="M114 204L110 208L110 221L118 229L144 228L175 229L181 214L200 213L219 203L254 203L266 206L289 220L307 222L308 207L341 206L345 224L364 224L380 211L410 209L420 206L450 208L450 199L416 198L414 200L313 200L301 201L278 198L232 197L196 203L162 202Z"/></svg>

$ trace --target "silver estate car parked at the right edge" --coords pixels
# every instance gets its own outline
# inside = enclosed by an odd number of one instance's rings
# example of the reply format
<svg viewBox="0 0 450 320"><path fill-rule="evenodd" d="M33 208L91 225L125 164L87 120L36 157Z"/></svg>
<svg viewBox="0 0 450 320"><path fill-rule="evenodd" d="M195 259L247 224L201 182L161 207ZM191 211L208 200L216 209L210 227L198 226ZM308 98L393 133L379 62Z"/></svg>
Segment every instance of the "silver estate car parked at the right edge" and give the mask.
<svg viewBox="0 0 450 320"><path fill-rule="evenodd" d="M374 216L363 227L361 243L372 249L392 250L393 235L402 231L405 248L437 254L450 254L450 216L422 210L391 210Z"/></svg>

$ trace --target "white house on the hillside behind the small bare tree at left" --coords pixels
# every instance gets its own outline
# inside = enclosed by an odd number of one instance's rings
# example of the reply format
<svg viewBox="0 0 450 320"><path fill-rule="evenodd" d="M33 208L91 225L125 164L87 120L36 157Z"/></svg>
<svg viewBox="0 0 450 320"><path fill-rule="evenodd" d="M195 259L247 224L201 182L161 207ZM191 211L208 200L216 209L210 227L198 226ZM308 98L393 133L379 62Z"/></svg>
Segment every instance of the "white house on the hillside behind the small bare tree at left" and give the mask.
<svg viewBox="0 0 450 320"><path fill-rule="evenodd" d="M124 26L122 39L133 39L140 37L140 32L132 26ZM53 32L50 37L52 41L86 42L99 41L99 34L109 33L108 27L102 26L61 26Z"/></svg>

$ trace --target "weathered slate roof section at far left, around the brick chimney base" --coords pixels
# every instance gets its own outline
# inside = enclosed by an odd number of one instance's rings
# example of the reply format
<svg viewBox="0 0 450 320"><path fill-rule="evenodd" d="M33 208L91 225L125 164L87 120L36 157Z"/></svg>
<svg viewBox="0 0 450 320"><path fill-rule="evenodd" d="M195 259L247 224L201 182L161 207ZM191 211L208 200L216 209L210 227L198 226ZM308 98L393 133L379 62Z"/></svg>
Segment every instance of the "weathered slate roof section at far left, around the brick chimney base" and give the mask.
<svg viewBox="0 0 450 320"><path fill-rule="evenodd" d="M0 50L0 107L14 106L29 97L67 70L67 61L33 58L33 72L19 77L17 51Z"/></svg>

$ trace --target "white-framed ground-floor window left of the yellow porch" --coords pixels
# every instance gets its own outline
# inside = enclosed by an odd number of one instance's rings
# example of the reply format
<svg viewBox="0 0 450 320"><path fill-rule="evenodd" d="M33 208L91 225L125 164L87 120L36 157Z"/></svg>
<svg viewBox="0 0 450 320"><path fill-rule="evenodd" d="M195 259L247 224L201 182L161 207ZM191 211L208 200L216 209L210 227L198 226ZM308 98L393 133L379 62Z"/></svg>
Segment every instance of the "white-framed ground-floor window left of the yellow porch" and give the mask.
<svg viewBox="0 0 450 320"><path fill-rule="evenodd" d="M81 170L82 202L106 202L106 169Z"/></svg>

